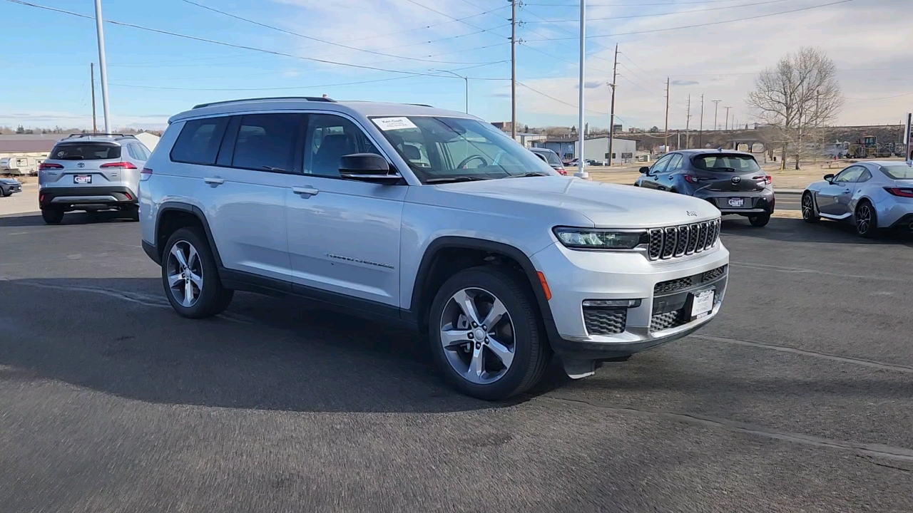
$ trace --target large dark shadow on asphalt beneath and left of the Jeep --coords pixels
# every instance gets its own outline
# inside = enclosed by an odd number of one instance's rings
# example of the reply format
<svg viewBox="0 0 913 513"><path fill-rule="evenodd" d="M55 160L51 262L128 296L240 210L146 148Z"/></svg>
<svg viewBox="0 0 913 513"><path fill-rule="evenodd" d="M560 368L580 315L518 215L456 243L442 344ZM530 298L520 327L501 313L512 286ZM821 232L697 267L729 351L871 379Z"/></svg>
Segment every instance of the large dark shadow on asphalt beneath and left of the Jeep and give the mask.
<svg viewBox="0 0 913 513"><path fill-rule="evenodd" d="M295 412L440 413L525 400L456 393L420 334L247 293L224 315L183 319L161 287L154 278L0 280L0 305L16 305L0 308L0 381Z"/></svg>

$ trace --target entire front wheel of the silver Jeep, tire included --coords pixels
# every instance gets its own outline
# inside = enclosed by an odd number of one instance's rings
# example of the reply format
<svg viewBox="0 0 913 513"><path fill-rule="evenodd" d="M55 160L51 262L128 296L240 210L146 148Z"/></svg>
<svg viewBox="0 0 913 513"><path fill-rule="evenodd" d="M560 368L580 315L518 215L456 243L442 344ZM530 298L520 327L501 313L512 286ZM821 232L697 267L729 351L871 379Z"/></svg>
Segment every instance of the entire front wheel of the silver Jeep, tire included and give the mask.
<svg viewBox="0 0 913 513"><path fill-rule="evenodd" d="M447 279L437 290L428 322L431 351L446 382L486 401L507 399L540 382L551 348L534 301L525 278L505 267L472 267ZM498 304L504 315L492 326L483 324ZM447 332L453 335L446 337Z"/></svg>

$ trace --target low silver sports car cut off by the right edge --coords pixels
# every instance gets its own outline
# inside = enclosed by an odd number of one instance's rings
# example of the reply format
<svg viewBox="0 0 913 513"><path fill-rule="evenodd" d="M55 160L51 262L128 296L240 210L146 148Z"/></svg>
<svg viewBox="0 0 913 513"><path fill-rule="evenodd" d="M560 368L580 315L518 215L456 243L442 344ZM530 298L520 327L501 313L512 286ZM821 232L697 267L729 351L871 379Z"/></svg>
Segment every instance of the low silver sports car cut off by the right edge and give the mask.
<svg viewBox="0 0 913 513"><path fill-rule="evenodd" d="M857 162L805 188L802 216L850 221L860 236L881 228L913 231L913 165L897 161Z"/></svg>

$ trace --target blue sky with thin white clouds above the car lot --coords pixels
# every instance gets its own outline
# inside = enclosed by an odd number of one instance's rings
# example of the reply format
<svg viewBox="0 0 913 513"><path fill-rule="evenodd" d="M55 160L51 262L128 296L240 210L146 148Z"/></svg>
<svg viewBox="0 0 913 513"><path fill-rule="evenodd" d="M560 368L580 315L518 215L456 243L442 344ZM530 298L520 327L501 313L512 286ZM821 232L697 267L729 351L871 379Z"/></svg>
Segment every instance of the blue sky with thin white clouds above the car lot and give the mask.
<svg viewBox="0 0 913 513"><path fill-rule="evenodd" d="M94 14L91 0L29 2ZM839 0L591 0L588 119L595 126L608 125L606 84L618 43L616 114L625 128L663 126L666 76L673 83L670 127L685 126L688 94L692 126L698 124L701 94L705 128L713 124L711 99L721 99L721 108L732 107L733 120L749 122L744 98L755 74L803 45L824 48L840 69L848 99L838 122L899 122L913 110L913 94L907 94L913 93L913 47L908 44L913 9L908 0L835 2ZM325 93L334 99L463 110L464 80L434 69L470 78L471 113L509 120L506 0L194 3L281 30L184 0L104 0L103 7L107 20L285 55L108 23L114 126L163 128L170 115L196 103L257 96ZM806 7L813 8L798 10ZM519 122L576 123L578 15L579 3L569 0L528 0L518 8L523 22L518 29L523 42L517 47ZM774 16L729 21L762 15ZM94 20L7 0L0 0L0 19L7 27L0 31L0 64L7 77L0 82L0 125L90 127L89 62L98 61ZM699 26L708 23L714 25ZM680 26L695 27L662 30ZM100 90L97 94L100 114ZM720 124L723 112L719 110Z"/></svg>

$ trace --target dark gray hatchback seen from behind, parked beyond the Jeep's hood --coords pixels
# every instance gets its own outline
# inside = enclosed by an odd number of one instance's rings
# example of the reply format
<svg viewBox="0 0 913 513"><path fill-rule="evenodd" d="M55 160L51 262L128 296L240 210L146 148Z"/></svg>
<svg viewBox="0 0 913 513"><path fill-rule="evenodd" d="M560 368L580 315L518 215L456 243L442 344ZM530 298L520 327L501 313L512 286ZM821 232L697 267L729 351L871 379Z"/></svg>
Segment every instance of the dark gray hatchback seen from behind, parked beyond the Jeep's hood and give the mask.
<svg viewBox="0 0 913 513"><path fill-rule="evenodd" d="M771 176L754 155L720 150L671 152L640 168L635 186L687 194L714 204L723 215L743 215L751 225L771 220L775 204Z"/></svg>

